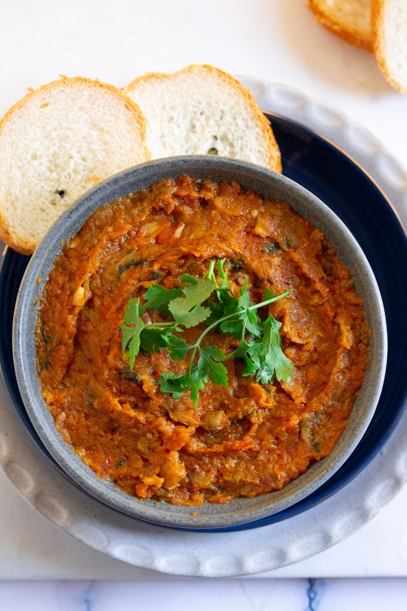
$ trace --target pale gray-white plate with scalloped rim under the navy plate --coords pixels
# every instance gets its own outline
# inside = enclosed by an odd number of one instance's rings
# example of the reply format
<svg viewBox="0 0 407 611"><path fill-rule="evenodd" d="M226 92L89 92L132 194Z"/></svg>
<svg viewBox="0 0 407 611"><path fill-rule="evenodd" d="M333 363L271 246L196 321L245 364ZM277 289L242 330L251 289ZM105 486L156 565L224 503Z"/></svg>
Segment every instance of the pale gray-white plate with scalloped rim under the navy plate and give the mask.
<svg viewBox="0 0 407 611"><path fill-rule="evenodd" d="M264 109L323 133L364 167L407 220L407 176L369 132L339 111L286 86L240 77ZM35 448L0 389L0 464L52 524L110 557L185 576L260 573L323 551L372 518L407 480L407 418L378 455L322 503L289 519L239 532L162 529L121 515L74 488Z"/></svg>

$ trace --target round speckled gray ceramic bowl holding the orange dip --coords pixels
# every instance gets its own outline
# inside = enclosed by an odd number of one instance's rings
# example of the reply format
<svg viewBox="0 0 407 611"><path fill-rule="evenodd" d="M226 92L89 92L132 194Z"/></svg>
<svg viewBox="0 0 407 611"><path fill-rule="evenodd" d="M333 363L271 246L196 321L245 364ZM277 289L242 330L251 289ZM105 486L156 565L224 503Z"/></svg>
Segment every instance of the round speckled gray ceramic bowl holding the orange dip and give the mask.
<svg viewBox="0 0 407 611"><path fill-rule="evenodd" d="M198 508L194 517L190 507L175 507L165 502L156 505L149 500L140 502L111 483L100 480L82 463L57 433L45 406L37 381L34 349L37 297L62 244L104 203L139 191L162 178L182 174L234 180L243 188L290 203L301 216L319 227L336 247L340 260L350 269L355 280L372 331L369 369L347 429L331 455L314 463L305 474L281 491L254 499L237 499L226 505L208 503ZM40 284L38 277L41 278ZM152 161L125 170L88 191L53 225L31 258L16 302L13 325L13 357L21 397L38 435L59 466L85 491L110 507L156 524L193 529L228 527L271 516L304 499L328 480L350 456L372 419L383 384L386 349L386 323L375 277L355 238L337 216L317 197L282 175L243 161L212 156Z"/></svg>

